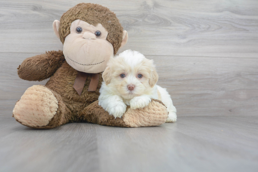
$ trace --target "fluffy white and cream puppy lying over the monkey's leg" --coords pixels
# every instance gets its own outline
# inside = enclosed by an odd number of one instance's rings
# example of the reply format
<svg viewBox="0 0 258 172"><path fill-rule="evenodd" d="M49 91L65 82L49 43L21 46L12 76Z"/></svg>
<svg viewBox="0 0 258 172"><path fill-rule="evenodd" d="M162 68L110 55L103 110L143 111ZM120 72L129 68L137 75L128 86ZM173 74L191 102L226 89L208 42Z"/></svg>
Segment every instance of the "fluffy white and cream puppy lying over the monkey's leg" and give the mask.
<svg viewBox="0 0 258 172"><path fill-rule="evenodd" d="M153 60L148 60L137 51L126 50L111 57L102 74L99 105L115 118L121 118L126 105L132 109L148 106L151 98L161 100L168 111L166 122L176 121L173 106L166 88L156 85L158 74Z"/></svg>

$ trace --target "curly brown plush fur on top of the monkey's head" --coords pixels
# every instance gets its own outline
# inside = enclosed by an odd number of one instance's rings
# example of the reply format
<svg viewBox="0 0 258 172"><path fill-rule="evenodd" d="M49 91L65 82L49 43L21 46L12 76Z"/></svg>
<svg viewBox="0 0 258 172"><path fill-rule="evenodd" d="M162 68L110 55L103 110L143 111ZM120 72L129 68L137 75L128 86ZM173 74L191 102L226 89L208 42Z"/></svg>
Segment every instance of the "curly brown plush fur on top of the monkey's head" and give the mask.
<svg viewBox="0 0 258 172"><path fill-rule="evenodd" d="M77 19L94 26L97 26L98 23L102 24L108 31L107 41L113 45L114 54L117 53L123 40L123 27L115 13L98 4L77 4L65 12L60 19L59 36L62 43L65 42L66 36L70 34L71 23Z"/></svg>

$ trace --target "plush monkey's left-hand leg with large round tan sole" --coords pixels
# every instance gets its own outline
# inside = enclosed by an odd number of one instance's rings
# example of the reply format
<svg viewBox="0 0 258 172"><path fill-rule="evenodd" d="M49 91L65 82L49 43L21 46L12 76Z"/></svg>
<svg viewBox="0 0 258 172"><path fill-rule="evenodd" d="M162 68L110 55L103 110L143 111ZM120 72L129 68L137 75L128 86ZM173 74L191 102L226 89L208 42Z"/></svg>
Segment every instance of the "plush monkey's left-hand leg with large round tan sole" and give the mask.
<svg viewBox="0 0 258 172"><path fill-rule="evenodd" d="M16 102L13 117L24 126L42 129L60 126L70 119L62 97L43 85L33 85L24 92Z"/></svg>

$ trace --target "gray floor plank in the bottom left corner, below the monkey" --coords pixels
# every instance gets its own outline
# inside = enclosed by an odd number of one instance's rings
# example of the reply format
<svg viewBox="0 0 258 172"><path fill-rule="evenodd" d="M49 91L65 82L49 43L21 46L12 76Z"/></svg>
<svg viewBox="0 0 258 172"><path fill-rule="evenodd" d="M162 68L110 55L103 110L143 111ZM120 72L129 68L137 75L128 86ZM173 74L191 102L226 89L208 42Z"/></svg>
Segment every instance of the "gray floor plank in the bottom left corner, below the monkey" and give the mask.
<svg viewBox="0 0 258 172"><path fill-rule="evenodd" d="M94 126L70 124L53 130L33 130L17 123L14 118L6 119L12 121L13 128L1 130L1 133L8 134L0 140L0 171L99 171ZM6 164L6 161L14 159L15 164ZM79 163L74 163L74 160Z"/></svg>

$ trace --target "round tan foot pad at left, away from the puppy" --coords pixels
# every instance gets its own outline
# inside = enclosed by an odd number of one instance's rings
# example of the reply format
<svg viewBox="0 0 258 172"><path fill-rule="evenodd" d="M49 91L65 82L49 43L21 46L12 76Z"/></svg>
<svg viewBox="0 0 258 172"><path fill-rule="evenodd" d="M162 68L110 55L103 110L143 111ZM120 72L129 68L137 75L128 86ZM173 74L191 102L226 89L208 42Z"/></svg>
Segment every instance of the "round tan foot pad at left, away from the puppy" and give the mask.
<svg viewBox="0 0 258 172"><path fill-rule="evenodd" d="M56 114L58 101L54 94L43 85L29 87L14 109L14 118L26 126L46 126Z"/></svg>

